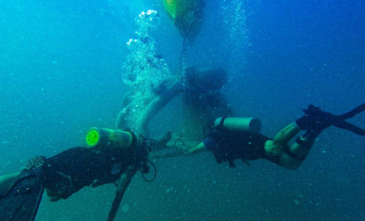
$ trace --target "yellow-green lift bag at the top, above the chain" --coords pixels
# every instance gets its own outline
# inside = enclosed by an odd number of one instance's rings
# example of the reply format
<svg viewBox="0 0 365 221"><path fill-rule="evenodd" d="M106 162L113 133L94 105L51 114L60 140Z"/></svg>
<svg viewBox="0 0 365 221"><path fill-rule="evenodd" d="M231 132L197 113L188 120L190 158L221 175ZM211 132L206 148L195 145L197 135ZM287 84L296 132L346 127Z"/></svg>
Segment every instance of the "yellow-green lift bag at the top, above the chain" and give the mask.
<svg viewBox="0 0 365 221"><path fill-rule="evenodd" d="M164 6L180 34L193 40L203 24L205 0L164 0Z"/></svg>

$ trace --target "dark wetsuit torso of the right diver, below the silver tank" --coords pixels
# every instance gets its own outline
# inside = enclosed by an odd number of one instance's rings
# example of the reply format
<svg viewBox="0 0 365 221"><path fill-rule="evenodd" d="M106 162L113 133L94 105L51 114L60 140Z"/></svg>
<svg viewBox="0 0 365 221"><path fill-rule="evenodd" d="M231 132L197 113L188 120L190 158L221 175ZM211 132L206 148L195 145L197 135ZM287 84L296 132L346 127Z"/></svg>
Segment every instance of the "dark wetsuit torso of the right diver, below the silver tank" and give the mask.
<svg viewBox="0 0 365 221"><path fill-rule="evenodd" d="M265 143L269 140L272 139L262 134L233 132L215 127L203 143L207 150L213 152L218 163L228 161L230 166L234 166L235 159L246 161L265 158L277 163L277 157L266 154Z"/></svg>

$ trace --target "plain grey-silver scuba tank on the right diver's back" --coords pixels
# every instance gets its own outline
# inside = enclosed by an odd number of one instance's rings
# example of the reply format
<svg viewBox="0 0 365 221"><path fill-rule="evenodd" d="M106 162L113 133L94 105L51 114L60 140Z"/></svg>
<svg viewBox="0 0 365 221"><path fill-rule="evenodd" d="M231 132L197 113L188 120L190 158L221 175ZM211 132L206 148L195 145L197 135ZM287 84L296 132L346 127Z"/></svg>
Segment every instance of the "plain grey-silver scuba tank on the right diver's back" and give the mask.
<svg viewBox="0 0 365 221"><path fill-rule="evenodd" d="M261 121L255 117L218 117L214 121L214 126L222 126L234 132L258 134L261 131Z"/></svg>

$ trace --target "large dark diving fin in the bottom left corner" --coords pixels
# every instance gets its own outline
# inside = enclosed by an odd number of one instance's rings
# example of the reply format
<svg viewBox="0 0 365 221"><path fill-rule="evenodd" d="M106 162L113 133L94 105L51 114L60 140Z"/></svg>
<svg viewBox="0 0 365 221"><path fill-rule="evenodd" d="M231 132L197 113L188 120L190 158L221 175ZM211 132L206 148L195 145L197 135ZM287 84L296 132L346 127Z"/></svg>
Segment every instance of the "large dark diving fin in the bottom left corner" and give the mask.
<svg viewBox="0 0 365 221"><path fill-rule="evenodd" d="M4 221L32 221L43 195L44 156L28 161L14 183L0 194L0 214Z"/></svg>

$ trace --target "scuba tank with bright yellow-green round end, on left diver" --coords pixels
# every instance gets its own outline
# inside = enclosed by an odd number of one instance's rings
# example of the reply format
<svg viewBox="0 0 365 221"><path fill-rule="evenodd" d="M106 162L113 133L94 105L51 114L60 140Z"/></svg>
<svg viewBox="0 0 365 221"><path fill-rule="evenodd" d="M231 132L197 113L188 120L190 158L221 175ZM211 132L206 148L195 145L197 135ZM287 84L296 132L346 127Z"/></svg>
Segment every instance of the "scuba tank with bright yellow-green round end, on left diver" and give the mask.
<svg viewBox="0 0 365 221"><path fill-rule="evenodd" d="M133 132L92 127L86 134L86 145L102 150L128 149L141 146L142 136Z"/></svg>

